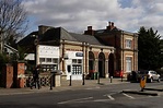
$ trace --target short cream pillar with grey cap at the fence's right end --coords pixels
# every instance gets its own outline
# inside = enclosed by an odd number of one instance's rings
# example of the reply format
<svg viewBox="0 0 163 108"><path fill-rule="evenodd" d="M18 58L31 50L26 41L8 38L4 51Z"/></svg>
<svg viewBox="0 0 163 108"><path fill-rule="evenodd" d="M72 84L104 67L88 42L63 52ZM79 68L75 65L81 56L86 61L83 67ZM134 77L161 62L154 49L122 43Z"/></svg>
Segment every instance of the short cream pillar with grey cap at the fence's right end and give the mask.
<svg viewBox="0 0 163 108"><path fill-rule="evenodd" d="M51 85L53 86L60 86L60 75L62 72L60 70L53 70L51 72Z"/></svg>

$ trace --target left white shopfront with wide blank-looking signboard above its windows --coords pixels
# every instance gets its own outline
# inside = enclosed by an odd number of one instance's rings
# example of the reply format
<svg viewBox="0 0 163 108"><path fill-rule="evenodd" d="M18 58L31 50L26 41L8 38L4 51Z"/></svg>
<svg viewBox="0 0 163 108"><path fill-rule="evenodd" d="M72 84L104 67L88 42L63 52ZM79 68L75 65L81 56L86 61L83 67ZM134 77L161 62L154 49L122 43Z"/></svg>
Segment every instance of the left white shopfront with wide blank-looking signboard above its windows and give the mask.
<svg viewBox="0 0 163 108"><path fill-rule="evenodd" d="M44 72L59 70L59 47L38 45L36 60Z"/></svg>

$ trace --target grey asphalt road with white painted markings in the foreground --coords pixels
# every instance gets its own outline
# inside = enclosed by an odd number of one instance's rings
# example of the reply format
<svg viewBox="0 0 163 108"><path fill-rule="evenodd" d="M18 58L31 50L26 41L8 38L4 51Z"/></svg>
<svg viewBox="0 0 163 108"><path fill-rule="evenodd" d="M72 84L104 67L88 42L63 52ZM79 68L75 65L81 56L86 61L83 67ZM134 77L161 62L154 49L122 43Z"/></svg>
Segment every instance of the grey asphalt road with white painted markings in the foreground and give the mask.
<svg viewBox="0 0 163 108"><path fill-rule="evenodd" d="M162 87L148 83L147 87ZM162 108L163 93L159 96L121 93L140 89L139 83L100 85L82 89L0 96L0 108Z"/></svg>

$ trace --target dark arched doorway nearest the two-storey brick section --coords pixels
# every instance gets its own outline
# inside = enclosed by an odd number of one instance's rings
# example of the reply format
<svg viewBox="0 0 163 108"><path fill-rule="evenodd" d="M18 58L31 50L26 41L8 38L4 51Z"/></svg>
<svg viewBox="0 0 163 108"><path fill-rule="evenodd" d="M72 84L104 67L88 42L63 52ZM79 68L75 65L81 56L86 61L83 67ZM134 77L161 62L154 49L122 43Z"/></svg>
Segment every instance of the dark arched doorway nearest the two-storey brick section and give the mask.
<svg viewBox="0 0 163 108"><path fill-rule="evenodd" d="M108 73L109 76L114 76L114 55L110 53L108 57Z"/></svg>

